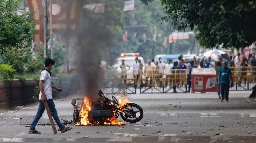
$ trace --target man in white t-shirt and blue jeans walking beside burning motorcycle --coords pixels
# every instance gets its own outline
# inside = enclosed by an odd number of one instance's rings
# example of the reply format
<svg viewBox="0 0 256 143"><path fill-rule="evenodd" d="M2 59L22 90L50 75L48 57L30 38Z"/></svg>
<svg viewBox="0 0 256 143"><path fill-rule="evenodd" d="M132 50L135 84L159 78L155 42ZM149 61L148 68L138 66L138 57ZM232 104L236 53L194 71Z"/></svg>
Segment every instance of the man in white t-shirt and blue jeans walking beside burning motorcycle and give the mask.
<svg viewBox="0 0 256 143"><path fill-rule="evenodd" d="M61 133L65 133L65 132L72 129L70 127L65 127L60 122L57 110L55 109L55 105L54 105L54 102L53 102L53 99L52 99L52 88L56 89L59 92L63 91L62 88L58 88L58 87L55 87L54 85L52 85L50 70L53 68L54 64L55 64L55 62L50 58L47 58L45 60L45 69L41 72L40 81L39 81L39 88L40 88L39 100L40 100L40 104L39 104L39 107L38 107L38 111L35 115L35 118L34 118L32 124L30 126L30 130L29 130L30 134L40 134L40 132L38 132L35 129L35 126L38 123L39 119L41 118L42 113L44 113L44 111L45 111L44 102L47 102L47 104L49 106L49 109L52 113L52 117L55 120L55 122L57 123L57 125L59 126L59 129L60 129Z"/></svg>

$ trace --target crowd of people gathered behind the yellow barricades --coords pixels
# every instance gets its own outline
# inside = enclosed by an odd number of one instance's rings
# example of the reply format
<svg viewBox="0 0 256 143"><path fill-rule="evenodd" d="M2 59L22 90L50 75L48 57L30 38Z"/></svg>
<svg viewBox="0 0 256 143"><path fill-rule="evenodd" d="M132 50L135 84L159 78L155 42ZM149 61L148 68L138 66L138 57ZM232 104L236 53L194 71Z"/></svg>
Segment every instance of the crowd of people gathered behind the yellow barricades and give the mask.
<svg viewBox="0 0 256 143"><path fill-rule="evenodd" d="M181 79L182 77L187 78L187 88L188 88L187 92L190 92L192 68L215 68L216 77L217 77L216 83L217 83L217 89L218 89L217 94L219 98L222 99L221 97L222 90L220 86L221 83L220 83L219 73L220 72L223 73L223 71L220 71L220 69L222 69L223 67L223 64L225 65L224 67L233 67L237 71L243 71L243 68L247 69L247 67L250 67L250 66L253 67L251 68L253 71L256 70L255 54L250 54L249 58L247 59L245 56L243 56L240 53L238 53L234 57L228 56L227 54L222 54L218 56L218 58L216 58L215 60L212 60L211 57L208 57L208 58L204 57L201 60L196 59L196 57L194 57L193 59L189 60L189 59L184 59L183 56L180 55L177 60L172 61L171 59L168 59L167 63L163 62L162 58L160 57L157 61L154 61L154 59L147 60L147 63L145 64L144 68L141 61L138 58L135 58L135 62L133 63L132 70L133 70L134 78L136 79L135 85L140 78L143 78L143 80L139 80L140 85L170 87L170 84L171 84L170 82L175 82L174 80L170 80L175 76L174 74L175 69L184 69L184 70L179 70L178 78L179 79ZM125 65L124 60L122 60L122 64L120 65L120 68L122 69L122 78L126 78L127 65ZM142 71L141 73L143 73L143 77L139 75L140 71ZM252 74L254 73L255 72L253 72ZM241 72L240 74L243 74L243 72ZM169 79L169 80L165 80L163 82L162 80L163 78ZM229 78L227 80L229 80ZM124 80L124 83L126 83L125 80ZM178 83L178 84L182 85L183 83ZM224 85L222 87L224 87ZM177 92L175 84L173 84L173 89L174 89L174 92Z"/></svg>

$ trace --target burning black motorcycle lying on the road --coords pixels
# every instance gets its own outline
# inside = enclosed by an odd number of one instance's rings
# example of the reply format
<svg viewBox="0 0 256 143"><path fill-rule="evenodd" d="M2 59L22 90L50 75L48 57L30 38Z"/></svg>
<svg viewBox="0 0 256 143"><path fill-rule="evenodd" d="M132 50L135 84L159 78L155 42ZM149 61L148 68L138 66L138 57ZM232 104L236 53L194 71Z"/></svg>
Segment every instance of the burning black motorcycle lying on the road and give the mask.
<svg viewBox="0 0 256 143"><path fill-rule="evenodd" d="M130 123L139 122L143 118L143 109L129 102L126 97L112 95L112 100L105 97L100 90L98 102L91 102L88 98L73 99L71 104L74 106L73 121L76 125L120 125L117 121L119 115ZM79 101L77 103L77 101Z"/></svg>

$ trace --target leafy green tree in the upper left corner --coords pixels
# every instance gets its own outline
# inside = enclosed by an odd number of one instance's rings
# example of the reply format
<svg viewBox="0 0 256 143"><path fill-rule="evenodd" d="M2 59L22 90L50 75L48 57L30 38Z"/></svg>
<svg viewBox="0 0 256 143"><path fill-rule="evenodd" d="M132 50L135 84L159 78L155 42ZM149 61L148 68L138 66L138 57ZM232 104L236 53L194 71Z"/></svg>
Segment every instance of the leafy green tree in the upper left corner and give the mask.
<svg viewBox="0 0 256 143"><path fill-rule="evenodd" d="M32 39L35 23L32 13L17 14L20 1L0 1L0 53L9 48L24 48Z"/></svg>

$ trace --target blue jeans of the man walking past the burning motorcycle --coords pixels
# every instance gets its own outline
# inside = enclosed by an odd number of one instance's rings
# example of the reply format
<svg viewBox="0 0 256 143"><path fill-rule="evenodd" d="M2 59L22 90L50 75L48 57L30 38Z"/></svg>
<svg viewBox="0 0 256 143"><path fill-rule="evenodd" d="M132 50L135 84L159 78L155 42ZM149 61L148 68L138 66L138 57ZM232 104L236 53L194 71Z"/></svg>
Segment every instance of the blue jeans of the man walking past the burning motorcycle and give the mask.
<svg viewBox="0 0 256 143"><path fill-rule="evenodd" d="M57 113L57 110L55 109L55 105L54 105L54 102L53 102L53 99L49 99L47 100L47 104L49 106L49 109L52 113L52 117L53 119L55 120L55 122L57 123L57 125L59 126L59 129L60 130L63 130L64 129L64 125L60 122L59 120L59 117L58 117L58 113ZM38 123L39 119L42 117L42 113L44 113L45 111L45 105L44 105L44 102L42 102L40 100L40 104L39 104L39 107L38 107L38 111L35 115L35 118L33 120L33 123L31 124L30 126L30 130L35 130L35 126L36 124Z"/></svg>

